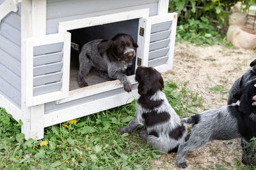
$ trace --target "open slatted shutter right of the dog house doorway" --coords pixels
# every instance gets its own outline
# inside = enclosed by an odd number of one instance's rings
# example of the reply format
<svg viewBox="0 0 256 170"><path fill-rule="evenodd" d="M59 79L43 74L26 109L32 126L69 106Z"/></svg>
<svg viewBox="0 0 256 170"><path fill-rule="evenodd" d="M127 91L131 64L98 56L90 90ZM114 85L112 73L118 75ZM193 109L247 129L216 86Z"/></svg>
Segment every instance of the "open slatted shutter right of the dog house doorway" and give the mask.
<svg viewBox="0 0 256 170"><path fill-rule="evenodd" d="M172 69L177 13L144 18L143 24L146 24L147 32L144 34L145 51L141 53L145 60L141 65L154 67L160 72Z"/></svg>

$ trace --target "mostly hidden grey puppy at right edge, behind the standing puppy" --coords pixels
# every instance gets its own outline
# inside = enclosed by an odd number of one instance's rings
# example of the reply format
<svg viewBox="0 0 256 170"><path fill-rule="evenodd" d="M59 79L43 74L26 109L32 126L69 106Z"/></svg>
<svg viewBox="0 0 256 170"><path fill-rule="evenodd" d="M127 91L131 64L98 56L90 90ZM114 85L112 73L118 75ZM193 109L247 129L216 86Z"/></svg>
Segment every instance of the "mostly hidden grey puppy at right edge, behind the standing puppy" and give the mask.
<svg viewBox="0 0 256 170"><path fill-rule="evenodd" d="M250 64L251 68L243 74L243 76L237 78L237 80L232 85L229 90L228 95L228 104L236 103L239 99L237 99L234 95L241 90L241 87L252 78L252 76L256 76L256 59L253 60Z"/></svg>

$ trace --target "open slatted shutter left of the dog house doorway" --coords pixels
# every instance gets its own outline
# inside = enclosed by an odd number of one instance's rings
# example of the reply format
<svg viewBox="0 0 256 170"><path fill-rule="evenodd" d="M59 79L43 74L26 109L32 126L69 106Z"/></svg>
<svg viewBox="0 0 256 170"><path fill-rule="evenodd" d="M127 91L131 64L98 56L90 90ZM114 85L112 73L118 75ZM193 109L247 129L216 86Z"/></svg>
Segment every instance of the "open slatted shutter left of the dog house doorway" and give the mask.
<svg viewBox="0 0 256 170"><path fill-rule="evenodd" d="M24 41L27 107L68 97L70 41L69 32Z"/></svg>

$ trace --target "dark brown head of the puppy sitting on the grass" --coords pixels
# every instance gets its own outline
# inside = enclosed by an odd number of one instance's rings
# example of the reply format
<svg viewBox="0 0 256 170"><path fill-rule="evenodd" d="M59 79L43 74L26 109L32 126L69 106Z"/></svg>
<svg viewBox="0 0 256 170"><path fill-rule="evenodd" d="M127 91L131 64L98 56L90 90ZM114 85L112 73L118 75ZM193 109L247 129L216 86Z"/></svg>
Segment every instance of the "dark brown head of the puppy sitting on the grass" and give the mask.
<svg viewBox="0 0 256 170"><path fill-rule="evenodd" d="M164 87L161 73L152 67L138 67L135 80L139 83L138 93L141 96L152 96Z"/></svg>

